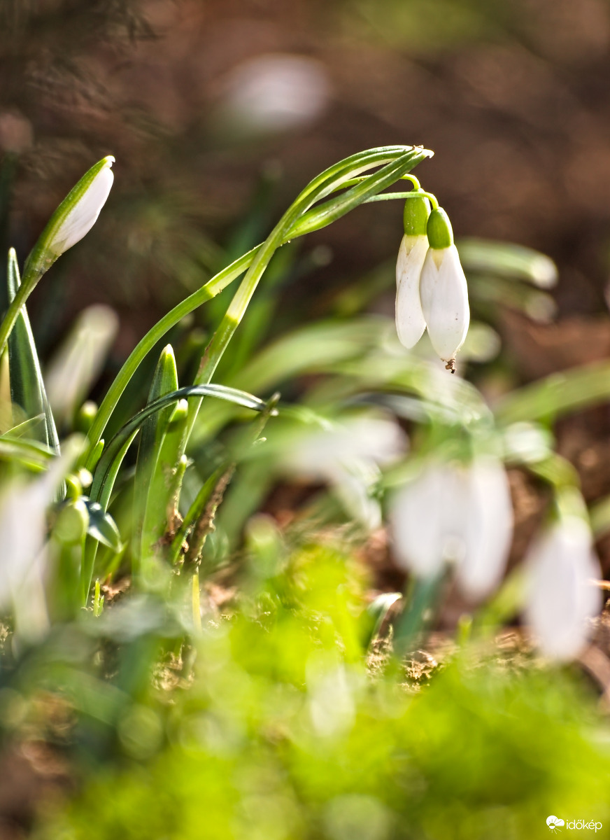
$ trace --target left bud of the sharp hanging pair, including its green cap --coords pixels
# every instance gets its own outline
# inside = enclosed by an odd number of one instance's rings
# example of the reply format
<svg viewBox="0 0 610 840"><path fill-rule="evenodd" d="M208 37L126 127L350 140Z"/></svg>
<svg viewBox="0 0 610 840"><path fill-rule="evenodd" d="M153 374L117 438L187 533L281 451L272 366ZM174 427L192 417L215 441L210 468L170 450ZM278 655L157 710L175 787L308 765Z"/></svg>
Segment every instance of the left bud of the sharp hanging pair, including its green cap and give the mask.
<svg viewBox="0 0 610 840"><path fill-rule="evenodd" d="M417 344L425 330L420 275L428 251L429 215L427 198L408 198L404 202L404 237L396 261L396 332L400 343L409 349Z"/></svg>

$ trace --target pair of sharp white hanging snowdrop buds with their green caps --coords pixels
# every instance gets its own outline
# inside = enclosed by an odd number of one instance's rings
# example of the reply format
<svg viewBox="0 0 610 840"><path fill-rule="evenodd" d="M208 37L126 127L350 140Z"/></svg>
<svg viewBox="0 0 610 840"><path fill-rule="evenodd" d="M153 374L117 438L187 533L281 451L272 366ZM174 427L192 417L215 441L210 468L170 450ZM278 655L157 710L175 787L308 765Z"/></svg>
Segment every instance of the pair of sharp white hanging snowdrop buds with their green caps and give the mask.
<svg viewBox="0 0 610 840"><path fill-rule="evenodd" d="M405 202L396 284L400 342L410 349L427 327L435 352L454 373L470 323L466 277L449 217L441 207L430 212L424 197Z"/></svg>

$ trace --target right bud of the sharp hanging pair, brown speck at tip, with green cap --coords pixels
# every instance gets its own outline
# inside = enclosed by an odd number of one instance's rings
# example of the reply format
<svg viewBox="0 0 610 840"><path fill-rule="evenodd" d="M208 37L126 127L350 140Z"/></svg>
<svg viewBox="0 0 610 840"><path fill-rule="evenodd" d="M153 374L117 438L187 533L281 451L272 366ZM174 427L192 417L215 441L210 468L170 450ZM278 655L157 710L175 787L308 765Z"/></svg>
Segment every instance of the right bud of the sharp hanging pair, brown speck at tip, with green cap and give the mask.
<svg viewBox="0 0 610 840"><path fill-rule="evenodd" d="M466 277L451 222L440 207L430 213L427 232L430 249L421 270L421 308L432 346L453 372L470 323Z"/></svg>

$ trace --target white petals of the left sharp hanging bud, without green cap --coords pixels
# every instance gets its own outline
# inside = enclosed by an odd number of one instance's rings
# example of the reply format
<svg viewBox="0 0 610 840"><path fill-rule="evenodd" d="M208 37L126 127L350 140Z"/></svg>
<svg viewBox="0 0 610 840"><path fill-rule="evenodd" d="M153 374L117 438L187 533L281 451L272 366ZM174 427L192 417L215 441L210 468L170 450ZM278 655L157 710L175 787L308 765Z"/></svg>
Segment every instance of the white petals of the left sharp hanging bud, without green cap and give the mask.
<svg viewBox="0 0 610 840"><path fill-rule="evenodd" d="M427 251L427 236L404 234L396 260L396 332L400 343L409 349L417 344L425 330L420 274Z"/></svg>

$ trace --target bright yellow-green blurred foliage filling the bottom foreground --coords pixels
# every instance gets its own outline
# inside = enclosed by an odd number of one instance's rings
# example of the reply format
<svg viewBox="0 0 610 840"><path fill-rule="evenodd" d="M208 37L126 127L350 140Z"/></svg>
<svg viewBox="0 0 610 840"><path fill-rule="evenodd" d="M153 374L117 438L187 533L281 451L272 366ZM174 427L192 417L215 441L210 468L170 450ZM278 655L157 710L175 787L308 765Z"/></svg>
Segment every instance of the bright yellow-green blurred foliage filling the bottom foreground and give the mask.
<svg viewBox="0 0 610 840"><path fill-rule="evenodd" d="M37 836L508 840L545 837L550 813L607 821L605 725L570 674L466 648L430 684L372 679L350 560L310 544L284 564L205 622L188 690L123 712L122 765Z"/></svg>

